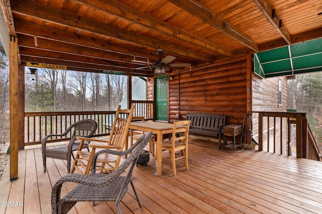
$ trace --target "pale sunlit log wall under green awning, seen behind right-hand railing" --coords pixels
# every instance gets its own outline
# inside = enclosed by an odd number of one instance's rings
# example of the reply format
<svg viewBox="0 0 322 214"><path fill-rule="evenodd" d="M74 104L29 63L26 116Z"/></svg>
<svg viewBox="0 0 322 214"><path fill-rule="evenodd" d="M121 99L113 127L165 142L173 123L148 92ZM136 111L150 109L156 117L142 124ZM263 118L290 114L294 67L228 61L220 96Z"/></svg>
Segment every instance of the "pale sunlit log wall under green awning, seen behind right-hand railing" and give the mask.
<svg viewBox="0 0 322 214"><path fill-rule="evenodd" d="M279 105L279 78L282 80L282 105ZM287 110L287 79L286 77L275 77L264 79L253 74L252 80L252 111L286 111ZM258 141L258 113L253 113L253 137ZM273 150L273 137L276 137L276 153L280 153L280 119L276 119L275 135L273 132L274 119L269 121L268 130L267 118L263 118L263 142L267 142L267 133L270 135L270 151ZM282 119L283 139L287 139L287 119ZM283 154L287 153L286 142L283 144ZM263 150L267 151L267 143L263 144Z"/></svg>

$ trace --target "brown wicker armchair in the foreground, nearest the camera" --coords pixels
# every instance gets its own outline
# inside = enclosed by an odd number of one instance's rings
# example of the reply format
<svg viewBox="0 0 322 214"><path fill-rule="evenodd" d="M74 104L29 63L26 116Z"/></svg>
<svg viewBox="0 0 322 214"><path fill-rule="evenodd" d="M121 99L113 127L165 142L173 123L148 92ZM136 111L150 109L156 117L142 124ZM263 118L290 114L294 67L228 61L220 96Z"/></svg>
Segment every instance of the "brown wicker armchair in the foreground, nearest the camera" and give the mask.
<svg viewBox="0 0 322 214"><path fill-rule="evenodd" d="M115 201L117 213L121 213L119 203L131 183L140 207L141 201L131 180L133 168L140 152L150 141L152 132L147 132L128 150L116 151L105 149L97 152L93 158L92 171L89 175L67 174L61 177L52 188L52 213L67 213L77 201ZM99 154L108 153L119 156L129 155L125 161L110 174L96 173L96 159ZM121 176L122 173L122 176ZM126 173L126 174L124 174ZM77 185L60 199L61 187L64 182L76 182Z"/></svg>

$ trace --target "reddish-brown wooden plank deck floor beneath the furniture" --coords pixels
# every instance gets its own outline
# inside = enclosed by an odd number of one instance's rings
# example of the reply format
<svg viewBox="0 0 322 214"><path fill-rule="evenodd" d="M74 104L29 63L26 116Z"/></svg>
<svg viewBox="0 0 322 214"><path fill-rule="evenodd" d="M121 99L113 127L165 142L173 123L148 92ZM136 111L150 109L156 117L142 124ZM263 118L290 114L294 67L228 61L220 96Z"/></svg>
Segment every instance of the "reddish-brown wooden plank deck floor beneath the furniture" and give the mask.
<svg viewBox="0 0 322 214"><path fill-rule="evenodd" d="M161 177L154 175L154 157L135 167L132 188L122 200L122 213L322 213L322 164L278 154L245 149L219 151L211 141L190 140L189 171L179 160L177 176L164 161ZM165 155L167 153L165 152ZM0 213L50 213L51 187L66 174L62 160L47 160L43 173L40 146L19 152L19 179L9 181L9 164L0 181ZM62 194L72 188L67 183ZM22 202L22 206L19 206ZM113 213L113 202L78 202L70 213Z"/></svg>

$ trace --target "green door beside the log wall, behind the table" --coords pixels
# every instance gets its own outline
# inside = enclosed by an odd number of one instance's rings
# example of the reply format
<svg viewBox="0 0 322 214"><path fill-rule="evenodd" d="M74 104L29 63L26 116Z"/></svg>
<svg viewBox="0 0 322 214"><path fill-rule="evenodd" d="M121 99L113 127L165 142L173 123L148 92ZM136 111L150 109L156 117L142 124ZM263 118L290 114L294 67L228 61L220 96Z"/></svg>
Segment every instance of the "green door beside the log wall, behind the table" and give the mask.
<svg viewBox="0 0 322 214"><path fill-rule="evenodd" d="M155 78L154 120L168 121L168 76Z"/></svg>

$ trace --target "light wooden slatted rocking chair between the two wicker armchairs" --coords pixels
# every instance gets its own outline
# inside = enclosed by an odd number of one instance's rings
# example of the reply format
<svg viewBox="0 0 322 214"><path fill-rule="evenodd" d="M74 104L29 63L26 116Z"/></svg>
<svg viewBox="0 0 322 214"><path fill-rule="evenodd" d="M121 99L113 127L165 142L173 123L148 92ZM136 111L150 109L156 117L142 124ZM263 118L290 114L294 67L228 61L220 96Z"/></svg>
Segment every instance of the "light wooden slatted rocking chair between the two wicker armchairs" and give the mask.
<svg viewBox="0 0 322 214"><path fill-rule="evenodd" d="M79 174L88 175L90 173L92 160L97 148L117 149L119 151L123 151L125 143L128 143L128 130L134 111L134 105L132 105L130 110L122 110L120 108L121 106L119 105L116 111L113 127L108 141L91 138L91 144L89 144L89 147L92 148L92 150L89 152L82 150L82 143L89 139L86 137L76 138L78 140L81 140L81 143L78 147L78 151L76 153L75 160L72 165L71 173L73 173L76 170ZM124 114L128 115L127 119L120 117ZM120 156L115 157L114 155L103 153L99 155L97 158L98 165L96 166L96 170L100 171L101 173L110 173L119 166L120 159ZM85 171L82 171L82 168Z"/></svg>

